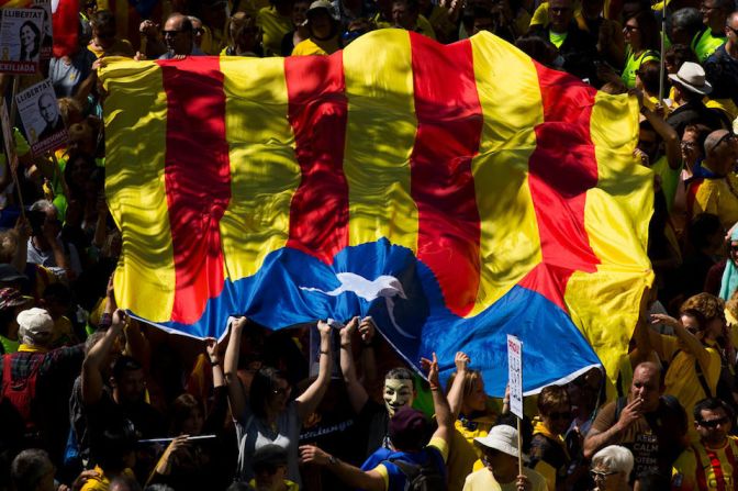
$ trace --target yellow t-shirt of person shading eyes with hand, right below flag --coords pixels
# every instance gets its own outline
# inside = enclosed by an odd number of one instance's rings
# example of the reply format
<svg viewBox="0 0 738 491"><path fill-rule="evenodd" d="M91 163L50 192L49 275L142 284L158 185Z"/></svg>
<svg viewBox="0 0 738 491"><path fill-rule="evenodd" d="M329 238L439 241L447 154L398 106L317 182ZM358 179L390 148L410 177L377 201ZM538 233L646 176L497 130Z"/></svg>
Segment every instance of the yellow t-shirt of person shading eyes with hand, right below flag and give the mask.
<svg viewBox="0 0 738 491"><path fill-rule="evenodd" d="M695 370L696 359L694 355L683 349L677 337L663 334L660 336L661 346L663 347L662 359L670 360L664 380L667 386L664 393L675 397L681 402L687 416L687 436L690 437L690 442L696 443L700 440L700 436L694 427L692 409L697 402L707 397ZM709 354L709 360L706 367L701 366L701 368L712 395L715 395L717 379L720 377L720 355L712 346L707 346L706 349Z"/></svg>

